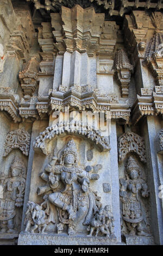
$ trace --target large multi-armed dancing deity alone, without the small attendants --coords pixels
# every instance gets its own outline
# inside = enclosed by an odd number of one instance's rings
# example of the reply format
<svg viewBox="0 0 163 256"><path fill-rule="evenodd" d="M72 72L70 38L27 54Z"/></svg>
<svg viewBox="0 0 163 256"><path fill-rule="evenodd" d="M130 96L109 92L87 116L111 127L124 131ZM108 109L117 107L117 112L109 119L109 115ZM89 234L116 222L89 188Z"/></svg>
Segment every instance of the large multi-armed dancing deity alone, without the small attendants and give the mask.
<svg viewBox="0 0 163 256"><path fill-rule="evenodd" d="M58 233L66 224L68 235L74 235L77 225L79 223L89 225L93 214L101 206L100 198L89 188L90 180L97 180L99 175L91 174L77 165L78 151L73 140L69 141L62 150L59 165L55 165L56 160L57 158L54 157L45 168L49 173L48 176L45 173L41 175L41 178L48 180L49 183L49 188L46 188L47 196L43 197L46 200L42 206L47 207L49 202L55 205L59 218ZM38 194L43 192L44 190L40 187ZM50 215L49 220L52 219Z"/></svg>

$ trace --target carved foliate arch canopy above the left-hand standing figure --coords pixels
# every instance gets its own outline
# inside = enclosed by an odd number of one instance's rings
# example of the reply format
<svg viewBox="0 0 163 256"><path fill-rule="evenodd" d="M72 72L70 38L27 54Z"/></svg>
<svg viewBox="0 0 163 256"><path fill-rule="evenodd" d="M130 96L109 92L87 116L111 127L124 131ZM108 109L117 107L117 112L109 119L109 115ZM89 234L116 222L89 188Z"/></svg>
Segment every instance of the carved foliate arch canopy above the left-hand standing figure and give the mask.
<svg viewBox="0 0 163 256"><path fill-rule="evenodd" d="M28 156L29 147L30 134L24 130L24 128L11 131L5 138L3 156L7 156L12 149L16 148L20 149L24 155Z"/></svg>

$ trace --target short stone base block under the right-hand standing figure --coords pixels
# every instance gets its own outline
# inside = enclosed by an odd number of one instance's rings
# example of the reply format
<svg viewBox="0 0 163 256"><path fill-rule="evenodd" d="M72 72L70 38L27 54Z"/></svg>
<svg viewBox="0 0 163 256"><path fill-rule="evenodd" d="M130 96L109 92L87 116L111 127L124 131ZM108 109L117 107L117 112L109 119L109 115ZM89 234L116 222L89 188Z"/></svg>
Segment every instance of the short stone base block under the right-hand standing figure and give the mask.
<svg viewBox="0 0 163 256"><path fill-rule="evenodd" d="M153 236L123 235L122 241L124 241L126 245L154 245Z"/></svg>

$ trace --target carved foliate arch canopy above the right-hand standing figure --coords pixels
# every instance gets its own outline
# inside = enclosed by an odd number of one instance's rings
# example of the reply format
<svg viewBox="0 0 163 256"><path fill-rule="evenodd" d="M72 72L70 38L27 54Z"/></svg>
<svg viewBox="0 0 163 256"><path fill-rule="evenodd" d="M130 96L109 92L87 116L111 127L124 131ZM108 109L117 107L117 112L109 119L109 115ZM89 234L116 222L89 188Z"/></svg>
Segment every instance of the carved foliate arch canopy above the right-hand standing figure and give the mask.
<svg viewBox="0 0 163 256"><path fill-rule="evenodd" d="M126 132L118 139L119 161L122 162L130 152L136 153L142 162L147 162L145 142L141 136L134 132Z"/></svg>

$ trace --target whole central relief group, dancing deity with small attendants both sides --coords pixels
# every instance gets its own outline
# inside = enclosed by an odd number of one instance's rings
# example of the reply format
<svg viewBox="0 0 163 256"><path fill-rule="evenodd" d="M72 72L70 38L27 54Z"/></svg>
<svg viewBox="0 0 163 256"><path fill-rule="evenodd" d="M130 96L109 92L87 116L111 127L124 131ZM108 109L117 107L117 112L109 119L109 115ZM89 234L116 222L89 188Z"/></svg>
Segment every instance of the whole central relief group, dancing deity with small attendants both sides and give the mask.
<svg viewBox="0 0 163 256"><path fill-rule="evenodd" d="M42 203L28 201L25 232L47 234L51 223L55 225L54 234L80 233L116 240L111 205L103 205L98 192L90 186L91 181L99 180L99 174L93 173L95 168L78 162L76 143L70 139L40 173L45 181L37 187Z"/></svg>

